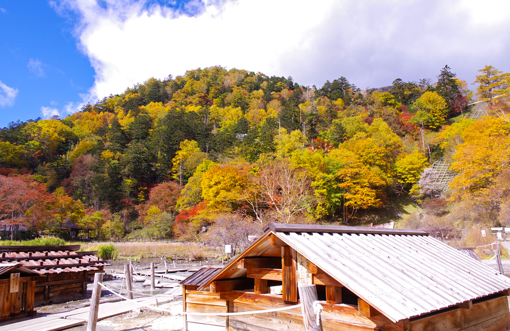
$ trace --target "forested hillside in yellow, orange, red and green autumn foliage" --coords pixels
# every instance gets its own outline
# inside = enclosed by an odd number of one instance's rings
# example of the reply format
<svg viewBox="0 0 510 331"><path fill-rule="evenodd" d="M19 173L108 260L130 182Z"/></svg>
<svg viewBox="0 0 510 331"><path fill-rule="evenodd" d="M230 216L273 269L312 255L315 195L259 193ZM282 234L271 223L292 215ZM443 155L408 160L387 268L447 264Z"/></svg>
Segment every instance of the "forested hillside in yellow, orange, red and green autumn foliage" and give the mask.
<svg viewBox="0 0 510 331"><path fill-rule="evenodd" d="M437 81L368 91L222 67L150 78L63 119L3 128L0 219L32 234L75 224L96 238L239 244L273 221L507 225L509 79L487 66L473 96L448 66ZM476 100L489 116L469 119ZM457 174L444 191L431 171L420 180L440 158Z"/></svg>

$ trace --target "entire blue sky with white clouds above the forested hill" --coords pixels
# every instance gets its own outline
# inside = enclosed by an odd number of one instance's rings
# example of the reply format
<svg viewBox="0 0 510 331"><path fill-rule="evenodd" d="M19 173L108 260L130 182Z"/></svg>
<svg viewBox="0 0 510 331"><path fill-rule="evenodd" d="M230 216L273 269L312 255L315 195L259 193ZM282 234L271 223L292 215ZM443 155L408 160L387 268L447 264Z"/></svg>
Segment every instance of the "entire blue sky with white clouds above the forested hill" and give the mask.
<svg viewBox="0 0 510 331"><path fill-rule="evenodd" d="M221 65L365 89L505 72L503 0L0 0L0 127ZM474 87L473 87L474 88Z"/></svg>

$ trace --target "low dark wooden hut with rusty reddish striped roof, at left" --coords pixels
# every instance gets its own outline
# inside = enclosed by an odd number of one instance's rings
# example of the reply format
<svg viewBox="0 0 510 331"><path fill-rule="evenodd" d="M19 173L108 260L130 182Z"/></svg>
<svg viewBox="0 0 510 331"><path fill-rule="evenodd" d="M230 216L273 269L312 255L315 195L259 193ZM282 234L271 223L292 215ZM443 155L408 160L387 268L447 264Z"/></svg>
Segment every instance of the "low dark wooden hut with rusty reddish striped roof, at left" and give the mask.
<svg viewBox="0 0 510 331"><path fill-rule="evenodd" d="M56 301L59 296L86 293L94 273L109 265L95 256L97 252L77 252L79 249L80 245L0 246L0 263L20 263L39 273L36 300Z"/></svg>

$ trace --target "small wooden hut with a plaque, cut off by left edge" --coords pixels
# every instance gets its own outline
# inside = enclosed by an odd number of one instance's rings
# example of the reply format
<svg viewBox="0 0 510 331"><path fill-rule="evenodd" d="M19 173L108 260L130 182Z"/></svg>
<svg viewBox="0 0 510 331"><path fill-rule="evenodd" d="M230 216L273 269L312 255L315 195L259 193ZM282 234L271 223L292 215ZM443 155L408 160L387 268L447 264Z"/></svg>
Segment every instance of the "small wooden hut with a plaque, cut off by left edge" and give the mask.
<svg viewBox="0 0 510 331"><path fill-rule="evenodd" d="M0 264L0 322L35 315L35 282L39 273L20 263Z"/></svg>

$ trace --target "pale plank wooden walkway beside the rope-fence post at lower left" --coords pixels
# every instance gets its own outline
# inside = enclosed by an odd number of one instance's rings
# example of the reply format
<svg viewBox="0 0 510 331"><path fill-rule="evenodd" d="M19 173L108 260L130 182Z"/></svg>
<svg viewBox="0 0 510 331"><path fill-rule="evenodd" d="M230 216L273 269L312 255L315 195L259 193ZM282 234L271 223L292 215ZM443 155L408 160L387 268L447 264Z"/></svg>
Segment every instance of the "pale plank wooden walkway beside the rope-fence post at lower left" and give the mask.
<svg viewBox="0 0 510 331"><path fill-rule="evenodd" d="M144 305L156 304L154 297L147 298L142 297L134 299ZM161 302L161 298L159 302ZM119 301L119 302L107 302L99 305L98 320L105 319L111 316L120 315L127 313L133 309L137 309L133 302ZM65 312L50 314L42 317L35 317L32 319L22 320L16 322L16 320L9 321L6 325L0 326L0 331L56 331L63 330L69 327L85 324L89 319L90 307L69 310Z"/></svg>

